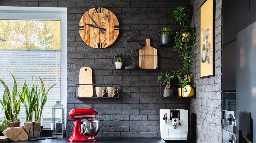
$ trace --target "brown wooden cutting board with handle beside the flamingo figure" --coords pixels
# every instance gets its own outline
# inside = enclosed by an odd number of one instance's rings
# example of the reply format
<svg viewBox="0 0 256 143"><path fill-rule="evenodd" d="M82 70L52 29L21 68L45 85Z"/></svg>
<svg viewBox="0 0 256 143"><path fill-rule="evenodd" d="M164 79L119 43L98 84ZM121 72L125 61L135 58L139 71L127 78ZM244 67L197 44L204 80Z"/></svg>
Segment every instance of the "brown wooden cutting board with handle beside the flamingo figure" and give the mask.
<svg viewBox="0 0 256 143"><path fill-rule="evenodd" d="M157 68L157 49L150 46L150 39L147 44L139 49L139 68L140 69L156 69Z"/></svg>

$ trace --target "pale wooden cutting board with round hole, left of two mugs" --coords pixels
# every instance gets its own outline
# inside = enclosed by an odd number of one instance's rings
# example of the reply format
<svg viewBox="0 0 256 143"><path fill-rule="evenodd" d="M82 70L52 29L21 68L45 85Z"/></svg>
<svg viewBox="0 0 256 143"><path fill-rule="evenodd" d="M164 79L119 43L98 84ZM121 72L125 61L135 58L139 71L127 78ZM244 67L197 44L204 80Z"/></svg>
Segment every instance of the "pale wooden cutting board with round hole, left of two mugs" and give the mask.
<svg viewBox="0 0 256 143"><path fill-rule="evenodd" d="M81 85L81 84L93 84L93 74L92 74L91 68L85 67L85 68L80 69L78 96L79 97L92 97L93 96L93 85Z"/></svg>

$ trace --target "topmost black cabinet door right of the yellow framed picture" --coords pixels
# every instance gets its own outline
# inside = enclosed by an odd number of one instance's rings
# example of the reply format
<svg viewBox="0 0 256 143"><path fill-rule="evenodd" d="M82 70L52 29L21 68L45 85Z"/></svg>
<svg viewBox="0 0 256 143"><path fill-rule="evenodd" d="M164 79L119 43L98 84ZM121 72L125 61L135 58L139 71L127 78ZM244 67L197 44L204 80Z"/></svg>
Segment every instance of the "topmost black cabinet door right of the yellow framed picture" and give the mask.
<svg viewBox="0 0 256 143"><path fill-rule="evenodd" d="M255 11L255 8L253 9ZM248 25L249 0L224 0L222 27L223 45L235 40L236 34Z"/></svg>

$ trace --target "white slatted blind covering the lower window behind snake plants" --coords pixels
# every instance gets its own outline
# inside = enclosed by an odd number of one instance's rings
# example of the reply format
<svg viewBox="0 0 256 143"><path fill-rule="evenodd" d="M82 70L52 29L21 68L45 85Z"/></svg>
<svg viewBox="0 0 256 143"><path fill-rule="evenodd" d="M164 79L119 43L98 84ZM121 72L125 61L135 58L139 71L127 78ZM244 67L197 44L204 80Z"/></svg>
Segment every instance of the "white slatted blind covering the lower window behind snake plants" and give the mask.
<svg viewBox="0 0 256 143"><path fill-rule="evenodd" d="M12 90L14 75L18 91L26 79L29 89L32 88L32 77L37 90L41 88L39 77L44 81L46 91L52 85L58 83L48 93L48 99L42 115L44 118L52 118L52 107L56 100L60 100L61 81L61 52L60 50L0 50L0 78L5 81ZM41 89L40 89L41 90ZM0 85L0 99L3 99L4 87ZM41 101L40 101L41 102ZM18 118L25 120L23 103ZM3 112L1 113L3 117Z"/></svg>

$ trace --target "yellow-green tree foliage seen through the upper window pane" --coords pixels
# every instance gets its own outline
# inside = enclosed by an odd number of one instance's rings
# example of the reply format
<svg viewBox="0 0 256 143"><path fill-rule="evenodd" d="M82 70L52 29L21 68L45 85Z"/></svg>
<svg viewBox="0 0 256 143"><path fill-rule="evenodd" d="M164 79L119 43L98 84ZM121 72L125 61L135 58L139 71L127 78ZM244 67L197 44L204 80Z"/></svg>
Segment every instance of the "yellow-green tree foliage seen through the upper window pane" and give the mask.
<svg viewBox="0 0 256 143"><path fill-rule="evenodd" d="M60 49L60 21L0 20L0 49Z"/></svg>

